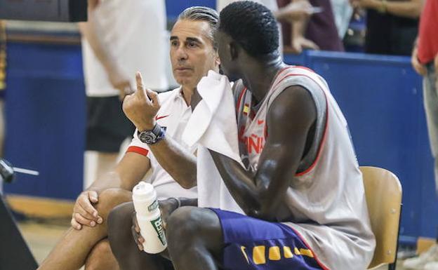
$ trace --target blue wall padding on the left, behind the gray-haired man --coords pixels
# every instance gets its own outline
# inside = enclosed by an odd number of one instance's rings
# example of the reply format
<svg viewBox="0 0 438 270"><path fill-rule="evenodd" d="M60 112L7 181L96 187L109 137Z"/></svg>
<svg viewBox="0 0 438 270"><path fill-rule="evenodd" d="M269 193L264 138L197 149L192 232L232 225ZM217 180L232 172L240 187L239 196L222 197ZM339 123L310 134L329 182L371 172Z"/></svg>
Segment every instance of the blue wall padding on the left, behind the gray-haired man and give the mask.
<svg viewBox="0 0 438 270"><path fill-rule="evenodd" d="M82 189L86 104L79 46L8 43L6 192L74 199Z"/></svg>

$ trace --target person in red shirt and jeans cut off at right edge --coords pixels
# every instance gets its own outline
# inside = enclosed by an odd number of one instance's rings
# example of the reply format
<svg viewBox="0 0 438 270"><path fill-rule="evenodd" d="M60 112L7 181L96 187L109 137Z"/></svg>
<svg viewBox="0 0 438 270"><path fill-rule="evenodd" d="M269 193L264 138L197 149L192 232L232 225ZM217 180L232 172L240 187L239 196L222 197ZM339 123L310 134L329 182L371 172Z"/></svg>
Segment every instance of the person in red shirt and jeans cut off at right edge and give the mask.
<svg viewBox="0 0 438 270"><path fill-rule="evenodd" d="M438 1L427 0L420 17L418 39L411 62L423 76L423 101L429 131L430 149L434 157L435 189L438 193ZM419 257L406 259L405 269L438 270L438 243Z"/></svg>

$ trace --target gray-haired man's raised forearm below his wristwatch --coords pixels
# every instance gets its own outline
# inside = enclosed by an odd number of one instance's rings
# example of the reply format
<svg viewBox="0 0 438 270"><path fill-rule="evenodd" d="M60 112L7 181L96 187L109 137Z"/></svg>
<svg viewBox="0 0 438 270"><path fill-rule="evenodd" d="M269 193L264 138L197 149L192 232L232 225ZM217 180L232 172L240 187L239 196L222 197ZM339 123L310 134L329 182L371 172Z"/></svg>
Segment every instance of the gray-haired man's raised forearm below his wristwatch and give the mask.
<svg viewBox="0 0 438 270"><path fill-rule="evenodd" d="M181 187L190 189L197 185L197 158L194 154L184 149L171 137L165 137L164 140L151 144L149 147L161 167Z"/></svg>

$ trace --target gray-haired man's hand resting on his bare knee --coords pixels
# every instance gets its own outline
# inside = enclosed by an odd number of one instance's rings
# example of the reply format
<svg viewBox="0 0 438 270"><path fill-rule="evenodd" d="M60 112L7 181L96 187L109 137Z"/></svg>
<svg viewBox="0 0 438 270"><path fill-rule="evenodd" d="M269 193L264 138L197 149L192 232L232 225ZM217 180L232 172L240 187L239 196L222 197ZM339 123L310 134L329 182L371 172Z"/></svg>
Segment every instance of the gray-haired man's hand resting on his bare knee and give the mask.
<svg viewBox="0 0 438 270"><path fill-rule="evenodd" d="M103 219L99 216L98 210L93 206L98 203L98 193L96 191L82 192L74 203L72 214L72 227L80 230L82 226L95 227L96 224L102 224Z"/></svg>

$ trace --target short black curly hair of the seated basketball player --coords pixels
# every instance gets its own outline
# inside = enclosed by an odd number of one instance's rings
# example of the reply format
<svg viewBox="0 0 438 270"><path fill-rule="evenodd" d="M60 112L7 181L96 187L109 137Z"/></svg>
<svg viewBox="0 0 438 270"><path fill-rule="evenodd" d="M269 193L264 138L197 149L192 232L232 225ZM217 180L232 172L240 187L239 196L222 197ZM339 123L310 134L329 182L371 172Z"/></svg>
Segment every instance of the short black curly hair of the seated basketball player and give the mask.
<svg viewBox="0 0 438 270"><path fill-rule="evenodd" d="M219 17L220 31L253 56L267 55L279 48L277 20L265 6L253 1L237 1L226 6Z"/></svg>

